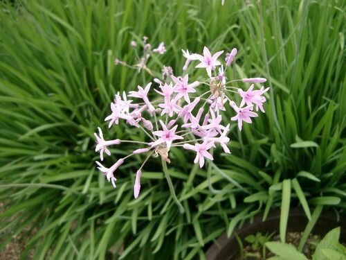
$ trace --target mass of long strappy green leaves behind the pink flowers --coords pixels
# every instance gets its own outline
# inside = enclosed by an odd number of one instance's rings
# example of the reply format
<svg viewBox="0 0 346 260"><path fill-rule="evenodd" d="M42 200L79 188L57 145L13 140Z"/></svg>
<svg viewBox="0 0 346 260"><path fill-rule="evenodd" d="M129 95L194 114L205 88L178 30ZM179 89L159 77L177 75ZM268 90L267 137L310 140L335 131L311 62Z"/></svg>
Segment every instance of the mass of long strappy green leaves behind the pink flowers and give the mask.
<svg viewBox="0 0 346 260"><path fill-rule="evenodd" d="M222 232L259 211L346 208L345 1L3 1L0 3L0 250L31 236L23 259L203 258ZM118 91L143 75L129 42L165 42L163 64L183 66L181 49L239 49L233 76L264 76L266 116L233 125L233 155L200 170L172 150L170 173L181 215L153 161L133 198L140 157L113 189L95 171L93 132L106 125ZM147 83L152 78L144 75ZM230 116L230 112L229 113ZM106 138L136 136L126 125ZM136 137L144 138L144 137ZM112 150L111 160L131 146ZM176 163L178 162L178 163Z"/></svg>

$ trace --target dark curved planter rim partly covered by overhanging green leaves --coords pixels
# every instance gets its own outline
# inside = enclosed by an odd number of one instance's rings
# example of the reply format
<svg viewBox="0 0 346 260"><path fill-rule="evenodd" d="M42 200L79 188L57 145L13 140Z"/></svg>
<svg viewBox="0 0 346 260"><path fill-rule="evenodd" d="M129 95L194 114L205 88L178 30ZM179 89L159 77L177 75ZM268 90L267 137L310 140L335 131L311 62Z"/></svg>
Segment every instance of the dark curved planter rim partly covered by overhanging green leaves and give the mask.
<svg viewBox="0 0 346 260"><path fill-rule="evenodd" d="M263 214L257 214L252 223L246 223L241 229L235 232L240 239L244 239L250 234L257 232L271 233L279 230L280 227L280 210L273 210L268 214L268 218L262 222ZM290 209L289 222L287 225L287 232L302 232L307 226L308 219L302 209ZM334 227L340 227L340 241L346 242L346 219L340 216L340 221L336 221L336 214L333 212L326 212L320 215L316 225L312 229L313 234L325 236ZM235 235L233 234L228 239L226 233L222 234L217 242L214 243L206 252L208 260L232 260L239 253L239 245Z"/></svg>

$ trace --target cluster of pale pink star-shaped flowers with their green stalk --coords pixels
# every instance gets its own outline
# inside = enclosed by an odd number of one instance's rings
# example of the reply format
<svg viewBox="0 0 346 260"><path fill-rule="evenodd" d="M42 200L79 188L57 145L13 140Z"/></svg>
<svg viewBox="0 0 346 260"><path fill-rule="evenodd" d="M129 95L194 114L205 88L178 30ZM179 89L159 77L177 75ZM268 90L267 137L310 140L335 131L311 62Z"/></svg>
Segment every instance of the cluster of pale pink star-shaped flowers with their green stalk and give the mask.
<svg viewBox="0 0 346 260"><path fill-rule="evenodd" d="M136 51L138 64L129 64L116 60L116 64L121 64L130 68L145 69L147 61L151 55L165 53L165 45L159 44L156 49L147 43L147 37L143 37L143 55L138 55L138 44L131 42L131 46ZM125 160L133 155L143 155L143 164L136 171L134 182L134 198L138 198L140 193L140 177L142 169L149 157L158 157L163 164L163 171L170 186L172 196L181 212L183 207L176 198L170 175L167 172L167 163L170 160L170 148L175 146L186 151L195 153L194 164L203 167L206 160L212 161L212 148L221 146L224 153L230 153L228 143L228 131L232 121L237 122L239 130L242 130L244 122L252 123L251 118L258 116L258 112L264 112L263 103L266 101L264 93L268 87L255 89L253 83L264 83L265 78L242 78L228 80L226 71L235 62L237 49L232 49L226 53L224 64L221 63L221 55L224 51L210 53L205 46L203 55L183 51L186 62L183 66L182 75L173 73L172 68L164 67L161 79L154 78L153 82L145 86L138 85L136 91L129 93L117 93L111 103L111 114L104 121L108 121L108 127L118 125L120 121L125 121L134 128L139 128L147 136L147 141L133 141L112 139L105 140L101 128L98 134L95 133L97 145L96 152L100 152L100 160L103 160L104 153L111 155L109 146L117 146L122 143L134 143L138 145L129 155L118 159L109 168L100 162L98 169L107 177L113 187L116 187L115 171ZM204 80L192 80L192 73L186 71L193 64L194 71L204 69L206 77ZM246 91L232 84L235 82L252 83ZM152 94L156 92L156 94ZM237 104L235 96L241 99ZM154 98L152 98L154 96ZM226 118L223 111L234 110L234 116ZM174 163L174 162L173 162Z"/></svg>

